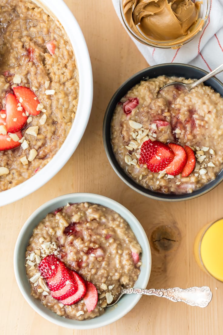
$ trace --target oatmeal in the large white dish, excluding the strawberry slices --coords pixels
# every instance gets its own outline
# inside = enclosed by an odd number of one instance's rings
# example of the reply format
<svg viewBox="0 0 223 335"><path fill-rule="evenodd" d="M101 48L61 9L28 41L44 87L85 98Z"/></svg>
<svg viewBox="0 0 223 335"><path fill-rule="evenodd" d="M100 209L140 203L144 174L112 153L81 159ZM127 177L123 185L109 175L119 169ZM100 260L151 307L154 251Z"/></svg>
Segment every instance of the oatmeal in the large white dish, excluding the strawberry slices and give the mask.
<svg viewBox="0 0 223 335"><path fill-rule="evenodd" d="M0 17L0 108L5 108L6 94L12 93L13 85L31 88L44 107L25 126L38 126L37 136L22 130L29 147L0 151L0 166L9 169L8 175L0 177L0 191L4 191L33 176L59 150L75 116L79 84L71 43L56 19L25 0L0 0ZM49 41L55 43L54 55L47 51ZM14 84L15 74L20 84ZM55 93L46 95L46 90ZM43 114L46 121L41 124ZM31 149L37 156L23 165L20 158L28 158Z"/></svg>

